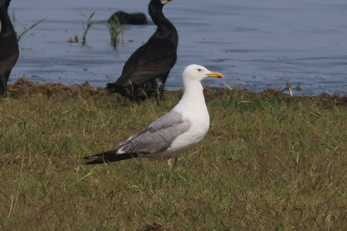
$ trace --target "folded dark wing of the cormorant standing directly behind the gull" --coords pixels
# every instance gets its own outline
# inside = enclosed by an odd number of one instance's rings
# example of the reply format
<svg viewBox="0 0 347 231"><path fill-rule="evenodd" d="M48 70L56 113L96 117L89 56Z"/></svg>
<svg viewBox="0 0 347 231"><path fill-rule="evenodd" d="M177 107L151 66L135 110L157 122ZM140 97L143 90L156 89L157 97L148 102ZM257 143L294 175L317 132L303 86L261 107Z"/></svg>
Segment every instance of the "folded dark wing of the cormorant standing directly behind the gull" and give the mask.
<svg viewBox="0 0 347 231"><path fill-rule="evenodd" d="M165 52L164 52L165 51ZM175 65L177 47L168 40L150 39L139 47L125 63L116 85L129 86L147 82L168 73Z"/></svg>

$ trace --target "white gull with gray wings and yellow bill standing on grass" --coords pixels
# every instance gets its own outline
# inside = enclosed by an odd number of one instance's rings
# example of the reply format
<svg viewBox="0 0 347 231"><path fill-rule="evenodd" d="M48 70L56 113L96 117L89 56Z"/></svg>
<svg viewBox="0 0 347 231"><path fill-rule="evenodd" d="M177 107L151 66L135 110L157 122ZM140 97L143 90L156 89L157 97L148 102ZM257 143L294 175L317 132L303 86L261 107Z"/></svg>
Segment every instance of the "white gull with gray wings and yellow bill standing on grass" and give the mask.
<svg viewBox="0 0 347 231"><path fill-rule="evenodd" d="M114 162L136 157L167 160L193 148L210 127L201 81L208 77L223 78L219 72L192 64L182 74L183 96L179 103L144 130L120 143L117 148L84 159L87 165Z"/></svg>

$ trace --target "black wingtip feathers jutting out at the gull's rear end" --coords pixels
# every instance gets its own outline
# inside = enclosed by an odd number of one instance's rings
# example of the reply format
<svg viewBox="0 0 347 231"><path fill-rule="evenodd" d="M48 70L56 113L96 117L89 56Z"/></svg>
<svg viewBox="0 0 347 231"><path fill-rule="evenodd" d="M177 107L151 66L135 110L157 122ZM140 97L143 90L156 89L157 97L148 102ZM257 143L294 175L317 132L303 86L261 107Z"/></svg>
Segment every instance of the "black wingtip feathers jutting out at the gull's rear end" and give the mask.
<svg viewBox="0 0 347 231"><path fill-rule="evenodd" d="M92 160L87 162L86 165L95 165L99 163L109 163L138 157L138 155L134 153L117 153L117 151L117 149L113 149L107 152L95 154L90 157L84 157L83 159Z"/></svg>

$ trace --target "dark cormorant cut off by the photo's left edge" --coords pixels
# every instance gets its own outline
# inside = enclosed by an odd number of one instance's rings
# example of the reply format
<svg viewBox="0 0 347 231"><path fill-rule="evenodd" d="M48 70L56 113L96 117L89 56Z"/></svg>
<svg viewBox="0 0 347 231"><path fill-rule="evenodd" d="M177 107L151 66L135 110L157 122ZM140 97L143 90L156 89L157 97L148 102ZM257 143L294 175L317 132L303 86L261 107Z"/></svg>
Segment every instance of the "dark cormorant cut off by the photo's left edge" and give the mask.
<svg viewBox="0 0 347 231"><path fill-rule="evenodd" d="M10 1L0 0L0 95L5 93L8 77L19 55L16 32L7 13Z"/></svg>

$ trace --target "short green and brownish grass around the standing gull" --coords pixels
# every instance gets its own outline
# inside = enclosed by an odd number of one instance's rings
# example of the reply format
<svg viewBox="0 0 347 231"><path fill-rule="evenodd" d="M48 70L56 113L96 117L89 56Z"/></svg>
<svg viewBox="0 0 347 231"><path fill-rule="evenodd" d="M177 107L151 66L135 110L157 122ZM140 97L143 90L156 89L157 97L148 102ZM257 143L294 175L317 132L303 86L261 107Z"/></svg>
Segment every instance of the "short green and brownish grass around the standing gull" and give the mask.
<svg viewBox="0 0 347 231"><path fill-rule="evenodd" d="M139 158L84 165L84 156L114 148L179 98L166 94L160 106L116 95L1 98L0 227L346 229L345 107L210 92L210 130L179 168Z"/></svg>

